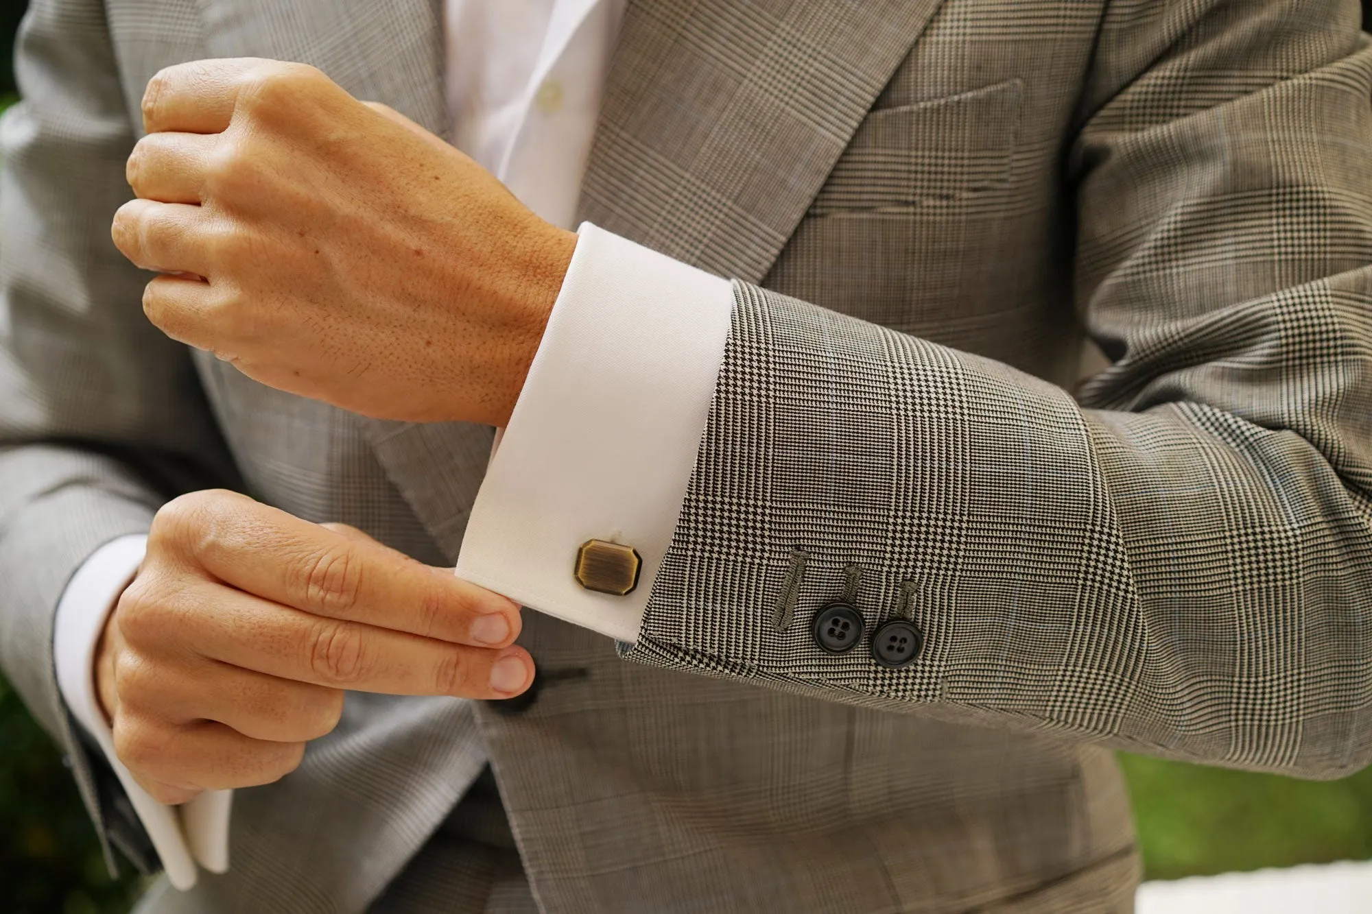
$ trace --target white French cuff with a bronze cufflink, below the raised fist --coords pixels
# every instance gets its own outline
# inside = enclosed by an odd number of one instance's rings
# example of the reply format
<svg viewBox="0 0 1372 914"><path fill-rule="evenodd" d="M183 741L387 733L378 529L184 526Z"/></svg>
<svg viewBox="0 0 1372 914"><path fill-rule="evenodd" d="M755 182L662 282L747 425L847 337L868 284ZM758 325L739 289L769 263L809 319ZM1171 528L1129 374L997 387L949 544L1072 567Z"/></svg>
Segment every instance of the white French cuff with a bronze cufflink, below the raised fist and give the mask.
<svg viewBox="0 0 1372 914"><path fill-rule="evenodd" d="M724 358L734 291L584 222L468 520L458 576L620 641L638 638ZM641 559L627 596L582 587L591 539Z"/></svg>

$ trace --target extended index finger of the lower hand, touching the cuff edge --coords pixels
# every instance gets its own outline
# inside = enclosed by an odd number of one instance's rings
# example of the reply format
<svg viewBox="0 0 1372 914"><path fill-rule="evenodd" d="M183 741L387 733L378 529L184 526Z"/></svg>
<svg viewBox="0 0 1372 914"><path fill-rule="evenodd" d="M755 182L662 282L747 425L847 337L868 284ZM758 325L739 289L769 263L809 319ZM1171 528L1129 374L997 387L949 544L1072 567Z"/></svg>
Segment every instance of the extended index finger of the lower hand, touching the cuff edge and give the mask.
<svg viewBox="0 0 1372 914"><path fill-rule="evenodd" d="M347 537L247 497L198 526L195 556L239 590L305 612L453 644L504 648L519 604L376 541Z"/></svg>

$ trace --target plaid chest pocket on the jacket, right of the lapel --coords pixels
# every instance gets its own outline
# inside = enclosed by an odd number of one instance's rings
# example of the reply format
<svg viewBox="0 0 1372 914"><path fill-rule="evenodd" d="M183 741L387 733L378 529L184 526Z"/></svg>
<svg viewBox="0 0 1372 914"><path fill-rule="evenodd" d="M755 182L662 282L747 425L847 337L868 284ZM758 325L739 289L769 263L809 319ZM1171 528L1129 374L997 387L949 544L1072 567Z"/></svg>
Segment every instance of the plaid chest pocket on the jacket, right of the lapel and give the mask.
<svg viewBox="0 0 1372 914"><path fill-rule="evenodd" d="M1021 80L867 115L809 215L956 202L1010 183Z"/></svg>

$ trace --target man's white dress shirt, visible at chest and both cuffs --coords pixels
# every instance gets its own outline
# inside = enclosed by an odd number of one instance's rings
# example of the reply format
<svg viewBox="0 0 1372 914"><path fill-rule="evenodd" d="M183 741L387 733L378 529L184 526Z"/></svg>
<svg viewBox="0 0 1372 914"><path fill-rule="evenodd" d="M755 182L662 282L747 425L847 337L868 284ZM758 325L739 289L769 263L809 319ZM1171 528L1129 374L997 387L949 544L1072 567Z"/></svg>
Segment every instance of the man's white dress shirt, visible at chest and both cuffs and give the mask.
<svg viewBox="0 0 1372 914"><path fill-rule="evenodd" d="M453 143L531 210L571 228L626 0L447 0ZM643 290L653 290L645 298ZM582 225L528 379L498 436L457 574L523 605L634 641L671 541L729 336L733 290ZM634 546L638 587L583 590L587 539ZM58 685L129 793L167 877L228 869L230 790L180 807L143 792L114 755L92 677L104 620L145 538L93 553L58 605Z"/></svg>

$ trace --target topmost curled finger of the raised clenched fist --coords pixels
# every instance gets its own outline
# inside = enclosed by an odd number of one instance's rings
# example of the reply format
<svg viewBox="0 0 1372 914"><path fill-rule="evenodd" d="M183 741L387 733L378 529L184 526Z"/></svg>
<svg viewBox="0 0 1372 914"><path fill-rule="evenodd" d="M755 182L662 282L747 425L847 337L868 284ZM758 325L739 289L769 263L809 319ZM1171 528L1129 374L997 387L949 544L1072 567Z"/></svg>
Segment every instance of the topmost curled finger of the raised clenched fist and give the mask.
<svg viewBox="0 0 1372 914"><path fill-rule="evenodd" d="M143 92L143 129L147 133L222 133L233 118L247 77L273 63L262 58L224 58L159 70Z"/></svg>

